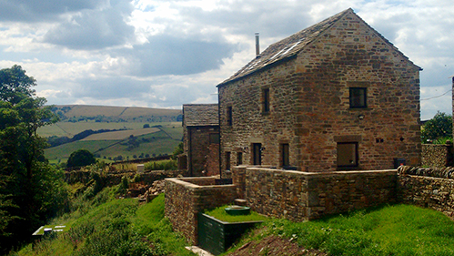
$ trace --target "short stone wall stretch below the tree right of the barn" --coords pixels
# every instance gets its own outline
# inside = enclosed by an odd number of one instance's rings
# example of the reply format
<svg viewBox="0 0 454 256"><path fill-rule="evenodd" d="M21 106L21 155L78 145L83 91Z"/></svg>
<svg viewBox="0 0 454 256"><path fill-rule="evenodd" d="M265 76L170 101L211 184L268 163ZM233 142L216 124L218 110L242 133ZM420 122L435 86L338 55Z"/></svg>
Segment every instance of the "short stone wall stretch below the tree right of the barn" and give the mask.
<svg viewBox="0 0 454 256"><path fill-rule="evenodd" d="M452 144L423 144L421 165L430 168L444 168L452 164Z"/></svg>

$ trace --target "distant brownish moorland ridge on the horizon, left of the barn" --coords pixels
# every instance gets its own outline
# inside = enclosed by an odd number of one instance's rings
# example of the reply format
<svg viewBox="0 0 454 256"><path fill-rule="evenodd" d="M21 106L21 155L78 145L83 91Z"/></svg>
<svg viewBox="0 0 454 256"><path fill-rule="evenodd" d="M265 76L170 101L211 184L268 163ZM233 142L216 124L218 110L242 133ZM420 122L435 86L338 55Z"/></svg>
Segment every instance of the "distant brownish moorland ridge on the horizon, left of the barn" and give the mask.
<svg viewBox="0 0 454 256"><path fill-rule="evenodd" d="M175 122L181 121L181 109L56 105L52 111L64 122Z"/></svg>

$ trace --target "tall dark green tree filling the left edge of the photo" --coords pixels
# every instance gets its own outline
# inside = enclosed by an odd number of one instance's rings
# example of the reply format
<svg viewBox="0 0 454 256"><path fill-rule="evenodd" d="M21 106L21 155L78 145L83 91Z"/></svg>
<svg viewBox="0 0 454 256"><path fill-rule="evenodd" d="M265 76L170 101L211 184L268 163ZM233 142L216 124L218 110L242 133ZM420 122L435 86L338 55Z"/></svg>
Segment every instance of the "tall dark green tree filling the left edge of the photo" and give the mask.
<svg viewBox="0 0 454 256"><path fill-rule="evenodd" d="M20 66L0 70L0 254L29 240L66 201L63 175L49 166L36 133L57 118L34 86Z"/></svg>

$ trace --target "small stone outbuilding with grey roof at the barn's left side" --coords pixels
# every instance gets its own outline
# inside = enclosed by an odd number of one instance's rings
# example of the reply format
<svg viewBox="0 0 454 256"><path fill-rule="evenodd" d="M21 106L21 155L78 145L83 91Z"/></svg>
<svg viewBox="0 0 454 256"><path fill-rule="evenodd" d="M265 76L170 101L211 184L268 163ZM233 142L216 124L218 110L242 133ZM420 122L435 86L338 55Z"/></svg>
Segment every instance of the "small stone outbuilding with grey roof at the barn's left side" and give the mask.
<svg viewBox="0 0 454 256"><path fill-rule="evenodd" d="M190 176L219 174L217 104L183 105L183 143Z"/></svg>

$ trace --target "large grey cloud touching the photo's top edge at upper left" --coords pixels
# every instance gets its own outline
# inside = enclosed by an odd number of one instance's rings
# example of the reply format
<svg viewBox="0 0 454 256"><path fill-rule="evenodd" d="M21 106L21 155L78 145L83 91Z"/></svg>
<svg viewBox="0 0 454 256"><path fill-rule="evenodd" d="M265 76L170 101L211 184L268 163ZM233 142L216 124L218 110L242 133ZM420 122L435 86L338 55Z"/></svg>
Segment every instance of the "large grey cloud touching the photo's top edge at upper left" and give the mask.
<svg viewBox="0 0 454 256"><path fill-rule="evenodd" d="M111 1L103 9L83 10L50 29L43 42L71 49L102 49L134 41L134 26L126 24L134 6L128 0Z"/></svg>

